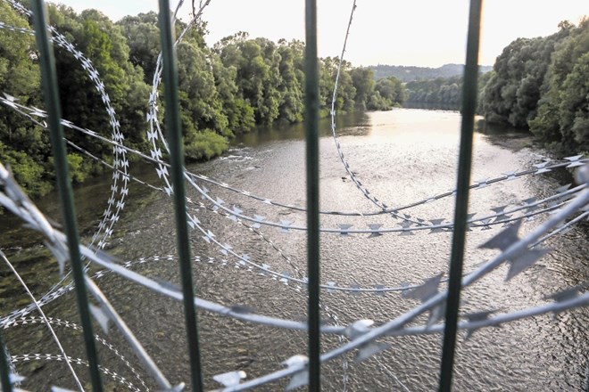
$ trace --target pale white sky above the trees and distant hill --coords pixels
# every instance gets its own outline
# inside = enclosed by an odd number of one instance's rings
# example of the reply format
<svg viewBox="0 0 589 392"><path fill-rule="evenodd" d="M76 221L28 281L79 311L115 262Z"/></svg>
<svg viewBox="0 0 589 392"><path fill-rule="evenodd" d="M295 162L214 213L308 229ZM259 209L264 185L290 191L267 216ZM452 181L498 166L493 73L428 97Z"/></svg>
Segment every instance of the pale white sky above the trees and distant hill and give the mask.
<svg viewBox="0 0 589 392"><path fill-rule="evenodd" d="M95 8L112 20L128 14L157 11L157 0L60 0L76 11ZM170 0L173 5L178 0ZM196 1L198 4L198 1ZM188 20L191 1L181 12ZM352 0L318 0L319 56L338 56ZM344 58L354 66L417 65L439 67L463 63L469 0L357 0ZM517 37L547 36L561 20L578 24L589 15L587 0L485 0L479 63L495 58ZM205 8L212 45L243 30L250 37L304 40L303 0L212 0Z"/></svg>

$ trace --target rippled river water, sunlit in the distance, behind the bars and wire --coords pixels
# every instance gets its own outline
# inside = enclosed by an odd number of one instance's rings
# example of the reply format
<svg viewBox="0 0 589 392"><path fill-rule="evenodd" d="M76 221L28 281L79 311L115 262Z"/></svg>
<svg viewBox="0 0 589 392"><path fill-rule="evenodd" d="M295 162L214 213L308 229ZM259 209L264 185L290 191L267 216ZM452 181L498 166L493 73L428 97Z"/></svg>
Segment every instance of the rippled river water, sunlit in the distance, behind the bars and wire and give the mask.
<svg viewBox="0 0 589 392"><path fill-rule="evenodd" d="M346 159L362 184L379 200L389 206L402 206L422 200L436 193L452 189L456 172L460 115L452 111L393 110L341 118L340 142ZM347 178L336 155L333 140L328 137L328 122L322 126L320 140L321 208L325 210L373 211L376 209ZM212 176L238 189L245 189L270 200L303 205L304 143L303 127L277 127L259 130L236 140L228 154L212 162L195 165L195 173ZM523 135L486 129L475 138L472 179L500 176L511 170L523 169L535 163L535 151ZM157 176L145 167L133 168L134 174L159 184ZM272 207L234 192L206 185L213 197L220 197L228 205L236 205L247 215L267 216L268 220L288 220L304 225L305 216L287 208ZM517 181L494 184L471 193L470 210L483 216L490 208L509 204L518 206L532 196L547 196L560 186L548 176L526 176ZM87 236L95 225L108 198L107 181L89 184L79 189L79 210L82 232ZM191 195L198 200L198 195ZM428 203L407 211L411 216L426 219L452 217L452 198ZM44 210L55 213L54 203L43 200ZM206 229L216 238L231 245L238 254L247 254L258 263L271 266L278 272L297 276L305 270L304 233L281 233L279 229L264 228L259 235L226 217L207 209L195 209ZM529 232L543 220L525 222L521 232ZM29 232L12 229L15 221L3 216L4 229L1 246L24 243L35 244L38 239ZM348 224L365 228L367 224L398 226L390 216L322 216L321 225L337 227ZM108 249L123 260L139 257L175 254L173 209L167 196L133 185L130 198ZM477 249L499 229L469 233L466 268L496 255L491 250ZM305 316L306 297L268 277L236 265L219 249L192 236L193 254L203 257L195 263L197 295L226 306L240 305L289 319ZM272 241L283 254L270 246ZM415 235L386 234L368 238L367 235L321 236L321 281L336 282L339 286L370 288L376 284L399 286L404 282L420 283L447 270L451 233L416 233ZM549 241L552 252L532 268L510 282L503 282L506 269L499 268L463 294L463 310L496 309L500 313L516 311L544 303L544 297L557 290L586 282L589 278L589 245L586 230L575 229ZM17 268L32 282L40 295L56 279L56 267L46 261L43 251L9 250ZM213 257L208 262L208 257ZM150 261L133 269L142 274L178 283L176 261ZM21 290L6 270L2 272L0 297L2 314L26 303ZM137 337L153 355L172 382L189 380L189 365L181 306L169 299L153 295L116 276L107 275L97 281L113 305L123 315ZM402 314L417 302L398 294L351 295L341 292L322 292L324 306L336 315L340 323L371 319L377 324ZM68 294L44 307L47 314L78 323L75 298ZM419 323L424 320L419 319ZM477 331L470 339L460 333L454 386L458 391L578 391L582 390L589 352L589 310L577 309L556 316L545 315ZM79 331L56 327L69 355L84 357L79 343ZM98 330L96 330L98 331ZM300 332L279 331L249 323L237 322L214 314L199 312L199 331L208 389L217 388L212 375L244 370L254 378L280 368L291 355L305 354L306 336ZM130 363L141 372L140 366L114 329L108 335L99 334L112 346L119 348ZM11 355L30 353L58 354L42 326L26 325L4 331ZM355 364L350 355L347 371L347 390L436 390L441 337L404 337L385 339L392 347L368 361ZM337 339L323 340L323 351L338 346ZM123 375L142 389L137 378L111 350L100 347L101 362L108 369ZM324 389L344 390L345 364L341 360L323 368ZM80 377L87 379L83 366L77 365ZM23 388L46 390L50 385L74 388L69 372L56 361L17 363L17 370L29 377ZM395 379L396 378L396 379ZM105 377L105 380L109 380ZM150 388L157 389L145 378ZM398 381L397 381L398 380ZM126 390L115 381L108 381L109 390ZM285 382L272 384L261 390L282 390ZM119 388L119 389L117 389Z"/></svg>

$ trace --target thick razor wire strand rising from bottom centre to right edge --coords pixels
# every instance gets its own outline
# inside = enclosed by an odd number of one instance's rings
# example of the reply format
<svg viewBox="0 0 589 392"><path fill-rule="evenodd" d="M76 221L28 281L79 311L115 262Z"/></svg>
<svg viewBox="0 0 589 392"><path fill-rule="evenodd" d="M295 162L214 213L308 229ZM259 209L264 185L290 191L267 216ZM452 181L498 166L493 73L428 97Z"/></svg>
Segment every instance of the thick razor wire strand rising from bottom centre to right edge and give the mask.
<svg viewBox="0 0 589 392"><path fill-rule="evenodd" d="M585 167L584 181L589 182L589 167ZM497 266L504 263L510 263L510 271L508 272L506 280L509 280L513 274L518 274L524 271L527 269L527 267L533 265L535 261L537 261L540 257L549 251L548 249L530 250L527 249L527 247L541 238L543 233L559 225L560 221L565 219L568 214L574 213L578 208L585 208L587 203L589 203L589 190L585 189L585 191L580 194L574 202L569 204L567 208L564 208L562 211L560 211L560 213L551 216L546 222L536 228L534 232L528 234L527 237L523 239L518 238L518 225L512 225L502 233L494 236L494 238L482 244L480 248L501 249L502 253L493 260L485 263L485 265L480 266L475 272L467 275L462 280L461 285L463 287L468 287L472 283L477 282L480 278L485 276L485 274L489 274ZM355 349L359 350L358 355L361 357L361 359L366 359L369 356L375 355L387 348L386 345L376 344L377 339L380 339L391 333L395 334L397 331L403 330L403 327L407 323L410 323L420 314L425 312L430 312L429 322L426 330L429 329L433 323L439 321L439 319L443 316L442 309L444 308L444 301L447 296L447 291L438 291L440 277L441 275L430 278L427 280L427 282L424 283L423 286L412 292L412 298L420 299L422 301L421 305L414 307L409 312L402 314L394 320L391 320L390 322L387 322L377 328L369 329L367 326L370 327L371 323L361 323L361 325L359 325L360 328L358 329L360 331L357 330L359 333L357 334L356 339L353 339L350 343L342 347L338 347L321 355L321 362L328 362L338 357L339 355L344 355L345 353ZM589 303L589 293L579 295L578 290L578 288L574 288L572 290L567 290L564 293L557 293L552 297L552 299L555 301L554 303L548 304L546 306L538 306L533 310L523 313L526 314L526 316L529 316L531 314L539 314L538 312L558 312L556 308L560 309L560 306L569 306L573 303L578 305L583 304L585 306L587 303ZM475 324L487 324L491 320L494 320L493 324L495 325L501 324L502 321L500 319L494 319L494 317L490 317L490 315L493 313L493 311L477 312L477 314L474 315L474 319L477 320ZM463 324L459 325L459 327L460 326L463 326ZM362 353L362 350L365 351ZM254 380L249 380L244 383L237 383L229 388L224 388L223 390L245 390L267 384L271 381L284 379L286 377L291 377L291 386L292 384L295 384L298 387L306 384L306 380L308 380L308 374L306 371L307 360L304 355L294 355L290 358L290 360L285 361L283 365L286 365L285 370L269 373L265 376Z"/></svg>

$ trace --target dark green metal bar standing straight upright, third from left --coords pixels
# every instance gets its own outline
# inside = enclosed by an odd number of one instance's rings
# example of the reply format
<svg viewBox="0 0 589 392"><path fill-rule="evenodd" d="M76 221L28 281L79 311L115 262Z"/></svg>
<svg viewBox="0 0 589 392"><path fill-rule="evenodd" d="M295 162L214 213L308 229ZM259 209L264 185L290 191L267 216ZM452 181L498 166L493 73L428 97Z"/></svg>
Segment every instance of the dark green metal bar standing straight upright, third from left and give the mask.
<svg viewBox="0 0 589 392"><path fill-rule="evenodd" d="M305 138L307 144L307 270L309 274L309 390L321 389L319 331L319 65L317 1L305 11Z"/></svg>

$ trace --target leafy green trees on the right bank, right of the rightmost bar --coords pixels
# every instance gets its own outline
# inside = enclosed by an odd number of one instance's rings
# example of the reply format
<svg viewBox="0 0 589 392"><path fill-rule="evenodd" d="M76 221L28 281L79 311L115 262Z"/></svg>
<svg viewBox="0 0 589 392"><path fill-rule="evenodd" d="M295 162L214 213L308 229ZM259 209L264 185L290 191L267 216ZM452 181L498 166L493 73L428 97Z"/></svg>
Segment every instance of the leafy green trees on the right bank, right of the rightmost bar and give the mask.
<svg viewBox="0 0 589 392"><path fill-rule="evenodd" d="M589 151L589 19L518 38L497 57L480 100L488 122L529 128L557 155Z"/></svg>

